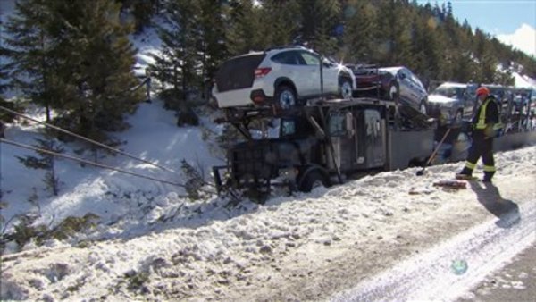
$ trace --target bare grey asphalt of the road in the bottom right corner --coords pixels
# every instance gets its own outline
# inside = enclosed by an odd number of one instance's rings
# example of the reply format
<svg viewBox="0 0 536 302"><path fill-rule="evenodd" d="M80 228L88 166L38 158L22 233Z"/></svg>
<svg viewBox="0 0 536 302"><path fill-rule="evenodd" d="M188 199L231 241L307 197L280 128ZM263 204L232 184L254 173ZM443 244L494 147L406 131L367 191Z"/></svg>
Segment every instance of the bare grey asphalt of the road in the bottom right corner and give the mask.
<svg viewBox="0 0 536 302"><path fill-rule="evenodd" d="M536 301L536 238L534 240L512 262L487 275L457 301Z"/></svg>

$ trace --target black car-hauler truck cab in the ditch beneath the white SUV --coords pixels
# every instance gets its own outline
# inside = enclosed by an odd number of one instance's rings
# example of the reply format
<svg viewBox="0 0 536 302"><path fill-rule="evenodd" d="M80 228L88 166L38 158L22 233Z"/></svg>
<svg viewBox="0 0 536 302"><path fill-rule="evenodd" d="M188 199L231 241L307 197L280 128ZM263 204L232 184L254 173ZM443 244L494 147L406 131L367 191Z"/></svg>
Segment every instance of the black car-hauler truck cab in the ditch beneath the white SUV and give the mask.
<svg viewBox="0 0 536 302"><path fill-rule="evenodd" d="M239 129L247 141L230 147L228 165L213 168L216 188L218 192L228 188L269 191L272 185L286 185L310 191L341 183L356 173L423 163L432 153L432 126L423 123L419 129L403 129L394 118L395 108L388 101L349 98L277 114L270 109L228 114L225 122ZM251 138L250 122L274 117L281 121L278 138Z"/></svg>

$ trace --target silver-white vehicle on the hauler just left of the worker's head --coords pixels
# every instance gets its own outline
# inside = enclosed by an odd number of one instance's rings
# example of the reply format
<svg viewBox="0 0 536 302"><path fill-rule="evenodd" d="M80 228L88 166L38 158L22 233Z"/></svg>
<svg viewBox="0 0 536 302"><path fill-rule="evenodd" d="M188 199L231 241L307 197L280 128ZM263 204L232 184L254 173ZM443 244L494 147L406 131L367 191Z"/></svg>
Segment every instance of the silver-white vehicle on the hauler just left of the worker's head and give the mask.
<svg viewBox="0 0 536 302"><path fill-rule="evenodd" d="M476 96L470 91L470 85L445 82L435 88L428 96L428 113L439 118L444 124L460 124L473 116Z"/></svg>

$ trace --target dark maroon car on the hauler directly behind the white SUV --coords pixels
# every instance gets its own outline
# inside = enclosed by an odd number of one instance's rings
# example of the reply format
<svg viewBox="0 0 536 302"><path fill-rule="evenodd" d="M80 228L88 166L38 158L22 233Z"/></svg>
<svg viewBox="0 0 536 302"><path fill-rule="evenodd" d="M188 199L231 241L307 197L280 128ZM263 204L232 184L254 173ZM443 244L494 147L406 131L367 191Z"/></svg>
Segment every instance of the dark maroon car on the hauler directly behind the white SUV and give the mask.
<svg viewBox="0 0 536 302"><path fill-rule="evenodd" d="M356 77L356 96L377 96L427 114L428 94L415 74L403 66L374 68L348 65Z"/></svg>

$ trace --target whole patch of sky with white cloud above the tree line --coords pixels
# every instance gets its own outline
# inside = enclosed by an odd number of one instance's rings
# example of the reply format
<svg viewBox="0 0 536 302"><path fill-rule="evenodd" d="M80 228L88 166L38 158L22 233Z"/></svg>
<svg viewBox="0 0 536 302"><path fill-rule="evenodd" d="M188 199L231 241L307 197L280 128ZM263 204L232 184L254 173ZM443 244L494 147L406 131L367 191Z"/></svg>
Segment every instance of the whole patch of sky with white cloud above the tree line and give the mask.
<svg viewBox="0 0 536 302"><path fill-rule="evenodd" d="M418 4L447 1L418 0ZM455 18L536 57L536 0L451 0Z"/></svg>

